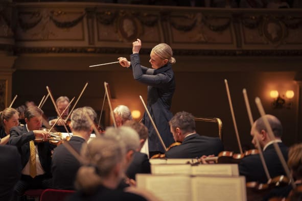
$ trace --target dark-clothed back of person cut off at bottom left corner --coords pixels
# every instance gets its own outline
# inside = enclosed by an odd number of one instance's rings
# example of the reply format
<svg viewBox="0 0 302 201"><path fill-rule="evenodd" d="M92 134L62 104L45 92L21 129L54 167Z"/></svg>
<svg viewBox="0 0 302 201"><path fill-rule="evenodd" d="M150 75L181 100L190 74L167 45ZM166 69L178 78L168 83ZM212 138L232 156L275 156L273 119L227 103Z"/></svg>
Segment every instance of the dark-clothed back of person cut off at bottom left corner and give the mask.
<svg viewBox="0 0 302 201"><path fill-rule="evenodd" d="M13 189L21 177L21 157L15 146L0 145L0 200L12 200Z"/></svg>

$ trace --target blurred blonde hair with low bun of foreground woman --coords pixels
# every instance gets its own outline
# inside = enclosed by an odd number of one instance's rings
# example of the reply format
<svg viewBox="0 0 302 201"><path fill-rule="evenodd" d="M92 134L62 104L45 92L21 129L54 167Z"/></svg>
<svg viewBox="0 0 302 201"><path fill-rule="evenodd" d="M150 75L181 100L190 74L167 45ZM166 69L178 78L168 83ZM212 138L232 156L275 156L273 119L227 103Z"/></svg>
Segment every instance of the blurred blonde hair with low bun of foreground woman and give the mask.
<svg viewBox="0 0 302 201"><path fill-rule="evenodd" d="M101 136L83 144L81 155L89 165L79 168L76 188L93 193L102 184L102 178L106 178L117 164L124 163L125 145L116 138Z"/></svg>

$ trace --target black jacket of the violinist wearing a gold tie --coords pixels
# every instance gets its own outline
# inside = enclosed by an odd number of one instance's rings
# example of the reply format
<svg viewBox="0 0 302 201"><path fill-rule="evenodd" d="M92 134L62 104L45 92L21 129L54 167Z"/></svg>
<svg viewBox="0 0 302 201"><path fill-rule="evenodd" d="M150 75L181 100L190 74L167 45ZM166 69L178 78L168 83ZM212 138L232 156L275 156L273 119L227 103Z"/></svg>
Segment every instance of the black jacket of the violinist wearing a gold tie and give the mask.
<svg viewBox="0 0 302 201"><path fill-rule="evenodd" d="M34 140L35 135L33 131L28 132L26 125L21 127L13 127L10 130L9 144L15 145L21 155L22 168L26 166L30 158L29 141ZM49 142L38 143L39 160L45 174L51 175L51 150L53 146Z"/></svg>

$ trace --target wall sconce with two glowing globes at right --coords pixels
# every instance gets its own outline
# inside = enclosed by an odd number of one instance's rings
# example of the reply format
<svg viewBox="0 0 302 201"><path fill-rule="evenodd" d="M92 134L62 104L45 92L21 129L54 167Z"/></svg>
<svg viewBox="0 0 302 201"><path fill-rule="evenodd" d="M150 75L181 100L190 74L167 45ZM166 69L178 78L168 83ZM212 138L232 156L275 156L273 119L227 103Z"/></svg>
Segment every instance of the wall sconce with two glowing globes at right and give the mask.
<svg viewBox="0 0 302 201"><path fill-rule="evenodd" d="M272 102L272 106L274 109L281 109L286 107L287 109L290 109L292 106L292 103L290 99L294 97L294 91L293 90L287 90L285 92L285 95L283 97L280 96L279 92L277 90L271 90L269 92L269 96L274 98ZM285 101L285 97L288 99L287 103Z"/></svg>

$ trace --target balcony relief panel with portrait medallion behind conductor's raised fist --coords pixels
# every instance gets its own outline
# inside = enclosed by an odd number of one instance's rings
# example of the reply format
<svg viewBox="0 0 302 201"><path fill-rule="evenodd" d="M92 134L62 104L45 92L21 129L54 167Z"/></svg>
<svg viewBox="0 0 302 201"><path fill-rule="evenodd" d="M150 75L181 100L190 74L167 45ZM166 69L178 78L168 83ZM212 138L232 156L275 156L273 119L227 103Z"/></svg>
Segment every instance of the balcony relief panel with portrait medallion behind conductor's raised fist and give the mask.
<svg viewBox="0 0 302 201"><path fill-rule="evenodd" d="M133 10L98 11L98 40L132 42L136 38L144 42L159 42L159 13L139 12Z"/></svg>

